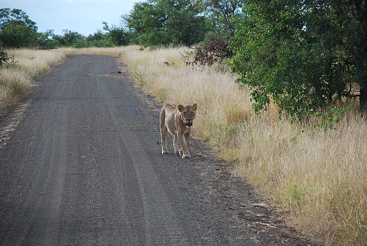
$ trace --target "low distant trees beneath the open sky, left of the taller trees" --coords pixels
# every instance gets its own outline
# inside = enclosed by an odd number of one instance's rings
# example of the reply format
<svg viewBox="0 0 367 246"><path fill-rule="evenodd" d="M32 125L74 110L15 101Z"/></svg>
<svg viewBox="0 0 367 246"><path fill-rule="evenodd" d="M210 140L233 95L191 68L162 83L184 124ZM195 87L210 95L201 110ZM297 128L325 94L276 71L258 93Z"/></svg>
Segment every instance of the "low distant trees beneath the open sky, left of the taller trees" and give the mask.
<svg viewBox="0 0 367 246"><path fill-rule="evenodd" d="M97 30L88 37L66 29L62 35L55 35L53 30L37 32L36 23L24 11L6 8L0 9L0 42L7 48L38 49L113 47L131 42L130 34L124 28L103 25L103 31Z"/></svg>

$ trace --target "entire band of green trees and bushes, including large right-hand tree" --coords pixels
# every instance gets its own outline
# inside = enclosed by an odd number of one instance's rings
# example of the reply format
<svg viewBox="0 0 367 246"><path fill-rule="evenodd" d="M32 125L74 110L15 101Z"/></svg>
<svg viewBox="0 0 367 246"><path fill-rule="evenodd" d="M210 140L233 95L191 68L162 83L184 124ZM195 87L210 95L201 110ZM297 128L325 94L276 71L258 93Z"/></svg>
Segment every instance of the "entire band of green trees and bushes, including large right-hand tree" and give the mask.
<svg viewBox="0 0 367 246"><path fill-rule="evenodd" d="M147 0L120 25L102 24L88 37L38 33L25 12L1 9L0 41L40 49L193 46L187 64L226 60L236 82L250 87L256 113L271 101L301 120L337 101L367 105L365 0Z"/></svg>

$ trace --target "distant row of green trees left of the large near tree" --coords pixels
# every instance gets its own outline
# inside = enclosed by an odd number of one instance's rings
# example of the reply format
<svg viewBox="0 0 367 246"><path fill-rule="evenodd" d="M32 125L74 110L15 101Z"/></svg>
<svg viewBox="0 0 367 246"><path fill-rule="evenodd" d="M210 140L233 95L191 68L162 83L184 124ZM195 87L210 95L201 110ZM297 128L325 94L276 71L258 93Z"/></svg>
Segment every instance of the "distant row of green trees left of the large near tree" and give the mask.
<svg viewBox="0 0 367 246"><path fill-rule="evenodd" d="M55 49L58 47L142 47L185 45L202 42L209 33L233 34L232 15L241 14L239 1L149 0L136 3L120 25L103 22L102 30L85 37L76 31L37 32L36 23L20 9L0 9L0 41L8 48Z"/></svg>

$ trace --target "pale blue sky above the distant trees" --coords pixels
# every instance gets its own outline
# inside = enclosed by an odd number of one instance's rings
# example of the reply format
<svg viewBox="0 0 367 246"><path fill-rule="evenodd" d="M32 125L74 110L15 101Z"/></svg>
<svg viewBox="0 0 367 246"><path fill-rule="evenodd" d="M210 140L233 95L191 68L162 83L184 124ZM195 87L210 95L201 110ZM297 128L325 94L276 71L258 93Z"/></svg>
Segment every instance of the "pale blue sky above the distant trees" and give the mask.
<svg viewBox="0 0 367 246"><path fill-rule="evenodd" d="M63 29L84 36L102 30L102 22L119 25L121 15L129 14L135 2L144 0L0 0L0 9L21 9L36 23L38 32Z"/></svg>

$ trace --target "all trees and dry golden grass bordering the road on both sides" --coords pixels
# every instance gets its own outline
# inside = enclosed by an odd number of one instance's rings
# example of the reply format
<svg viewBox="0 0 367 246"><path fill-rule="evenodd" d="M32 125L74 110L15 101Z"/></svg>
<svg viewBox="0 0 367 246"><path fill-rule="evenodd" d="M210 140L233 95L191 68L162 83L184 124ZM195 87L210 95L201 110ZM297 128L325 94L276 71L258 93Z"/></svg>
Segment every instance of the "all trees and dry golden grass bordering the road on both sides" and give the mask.
<svg viewBox="0 0 367 246"><path fill-rule="evenodd" d="M197 103L196 135L298 230L367 245L366 19L365 1L148 0L84 37L1 9L0 111L65 54L120 56L159 103Z"/></svg>

